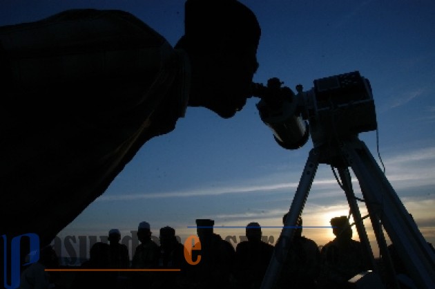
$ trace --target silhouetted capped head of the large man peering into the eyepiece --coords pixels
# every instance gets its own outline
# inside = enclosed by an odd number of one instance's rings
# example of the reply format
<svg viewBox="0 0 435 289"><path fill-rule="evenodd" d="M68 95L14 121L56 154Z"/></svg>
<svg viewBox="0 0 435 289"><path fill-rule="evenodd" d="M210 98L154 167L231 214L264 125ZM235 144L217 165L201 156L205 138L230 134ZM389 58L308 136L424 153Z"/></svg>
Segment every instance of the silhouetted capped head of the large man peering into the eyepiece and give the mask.
<svg viewBox="0 0 435 289"><path fill-rule="evenodd" d="M231 118L251 96L257 71L260 25L235 0L187 0L185 34L175 48L186 50L192 66L189 106L204 106Z"/></svg>

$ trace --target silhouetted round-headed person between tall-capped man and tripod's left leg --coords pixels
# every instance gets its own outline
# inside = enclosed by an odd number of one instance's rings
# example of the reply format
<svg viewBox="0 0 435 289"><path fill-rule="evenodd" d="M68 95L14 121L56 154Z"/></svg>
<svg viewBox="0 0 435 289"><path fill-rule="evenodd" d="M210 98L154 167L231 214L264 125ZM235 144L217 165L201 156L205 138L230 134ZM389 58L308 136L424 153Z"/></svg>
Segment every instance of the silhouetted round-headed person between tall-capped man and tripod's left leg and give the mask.
<svg viewBox="0 0 435 289"><path fill-rule="evenodd" d="M248 241L238 243L235 248L235 287L260 288L273 254L273 246L261 240L262 230L259 223L249 223L246 236Z"/></svg>

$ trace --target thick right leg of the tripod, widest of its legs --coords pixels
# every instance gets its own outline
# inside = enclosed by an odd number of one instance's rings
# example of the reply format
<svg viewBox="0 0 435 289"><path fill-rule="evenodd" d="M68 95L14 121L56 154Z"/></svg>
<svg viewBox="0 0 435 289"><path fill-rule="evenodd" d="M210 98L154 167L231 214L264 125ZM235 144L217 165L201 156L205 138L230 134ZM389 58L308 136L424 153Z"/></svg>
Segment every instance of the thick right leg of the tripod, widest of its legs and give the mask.
<svg viewBox="0 0 435 289"><path fill-rule="evenodd" d="M342 149L358 178L369 214L382 222L409 277L418 288L435 288L435 254L365 143L353 140Z"/></svg>

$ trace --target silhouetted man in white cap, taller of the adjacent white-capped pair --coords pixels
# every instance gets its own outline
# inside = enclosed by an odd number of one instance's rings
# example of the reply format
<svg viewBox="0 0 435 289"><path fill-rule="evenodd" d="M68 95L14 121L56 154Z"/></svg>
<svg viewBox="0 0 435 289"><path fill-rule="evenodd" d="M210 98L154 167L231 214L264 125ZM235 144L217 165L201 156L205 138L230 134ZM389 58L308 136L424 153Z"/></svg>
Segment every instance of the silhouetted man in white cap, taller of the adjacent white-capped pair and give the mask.
<svg viewBox="0 0 435 289"><path fill-rule="evenodd" d="M151 240L151 227L148 222L141 222L137 228L137 238L141 242L135 250L131 268L133 269L156 269L159 264L159 245ZM133 288L142 288L152 284L155 272L133 272Z"/></svg>

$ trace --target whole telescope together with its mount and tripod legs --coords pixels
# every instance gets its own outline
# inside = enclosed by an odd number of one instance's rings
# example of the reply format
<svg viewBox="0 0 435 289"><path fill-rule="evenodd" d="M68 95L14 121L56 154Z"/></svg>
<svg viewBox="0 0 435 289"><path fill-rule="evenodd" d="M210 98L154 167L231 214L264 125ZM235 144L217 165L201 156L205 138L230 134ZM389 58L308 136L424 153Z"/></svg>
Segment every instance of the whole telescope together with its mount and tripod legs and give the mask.
<svg viewBox="0 0 435 289"><path fill-rule="evenodd" d="M345 192L349 216L351 214L354 218L359 239L373 268L349 279L348 285L364 289L401 288L387 248L385 230L405 264L409 281L414 286L412 288L435 288L435 254L432 248L429 248L365 143L358 139L358 133L377 129L369 80L359 71L353 71L320 78L313 83L309 91L303 91L302 85L296 86L297 93L282 86L283 82L276 77L269 79L267 86L252 84L252 95L260 97L257 104L260 118L271 129L278 145L284 149L298 149L307 143L309 136L314 145L282 228L281 242L274 248L261 289L271 289L276 285L291 247L296 221L302 215L320 163L331 165L338 185ZM358 179L363 198L356 198L354 194L349 167ZM367 216L361 216L357 201L365 203ZM363 219L367 217L382 255L382 271L375 261L363 224Z"/></svg>

